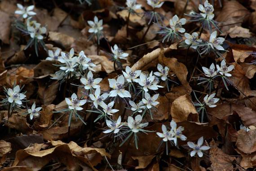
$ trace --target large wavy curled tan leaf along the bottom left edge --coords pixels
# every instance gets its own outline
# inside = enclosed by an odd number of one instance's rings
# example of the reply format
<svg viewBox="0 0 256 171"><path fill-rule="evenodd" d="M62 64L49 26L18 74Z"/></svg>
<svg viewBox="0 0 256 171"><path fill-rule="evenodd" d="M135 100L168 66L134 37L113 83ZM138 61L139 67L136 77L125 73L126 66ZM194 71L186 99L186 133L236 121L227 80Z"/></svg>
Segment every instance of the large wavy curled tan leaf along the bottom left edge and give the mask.
<svg viewBox="0 0 256 171"><path fill-rule="evenodd" d="M40 170L41 167L49 163L51 160L58 158L67 169L76 171L81 169L80 165L89 166L96 170L93 166L98 164L95 158L102 159L103 156L109 157L105 149L80 147L75 142L71 141L69 144L62 141L51 141L52 148L42 150L43 144L35 144L24 150L18 150L13 166L32 167ZM63 155L66 156L63 158ZM97 162L94 162L97 161Z"/></svg>

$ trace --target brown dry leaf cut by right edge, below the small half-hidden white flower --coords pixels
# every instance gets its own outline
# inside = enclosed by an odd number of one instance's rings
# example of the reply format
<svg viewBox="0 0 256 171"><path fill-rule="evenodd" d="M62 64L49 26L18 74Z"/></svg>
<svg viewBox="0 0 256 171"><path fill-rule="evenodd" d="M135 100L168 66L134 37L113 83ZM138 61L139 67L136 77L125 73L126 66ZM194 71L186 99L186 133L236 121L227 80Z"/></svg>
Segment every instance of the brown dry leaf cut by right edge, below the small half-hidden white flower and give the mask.
<svg viewBox="0 0 256 171"><path fill-rule="evenodd" d="M256 151L256 129L246 132L243 129L238 131L236 146L238 150L246 154Z"/></svg>

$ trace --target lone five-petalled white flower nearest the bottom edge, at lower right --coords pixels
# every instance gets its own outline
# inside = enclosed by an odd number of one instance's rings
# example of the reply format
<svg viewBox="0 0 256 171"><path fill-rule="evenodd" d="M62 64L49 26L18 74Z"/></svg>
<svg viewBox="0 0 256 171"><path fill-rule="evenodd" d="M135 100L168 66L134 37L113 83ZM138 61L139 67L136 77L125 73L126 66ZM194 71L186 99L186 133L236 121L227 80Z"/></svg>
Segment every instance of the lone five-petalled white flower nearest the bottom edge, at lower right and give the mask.
<svg viewBox="0 0 256 171"><path fill-rule="evenodd" d="M190 156L193 157L196 153L199 157L203 157L202 150L209 150L211 147L209 146L202 146L203 145L203 137L199 138L197 141L197 144L194 144L193 142L187 142L188 146L193 149L193 151L190 152Z"/></svg>

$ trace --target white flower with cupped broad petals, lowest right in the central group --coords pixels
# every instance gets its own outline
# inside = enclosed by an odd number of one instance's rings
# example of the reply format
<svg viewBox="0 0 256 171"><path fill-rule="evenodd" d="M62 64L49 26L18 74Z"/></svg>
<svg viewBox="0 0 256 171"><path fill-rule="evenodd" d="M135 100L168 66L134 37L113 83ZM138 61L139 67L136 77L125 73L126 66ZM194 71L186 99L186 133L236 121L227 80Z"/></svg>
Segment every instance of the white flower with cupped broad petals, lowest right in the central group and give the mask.
<svg viewBox="0 0 256 171"><path fill-rule="evenodd" d="M144 128L148 126L148 122L141 123L142 117L141 115L135 116L135 120L132 118L132 116L128 116L128 127L132 129L133 133L137 133L140 131L141 128Z"/></svg>

